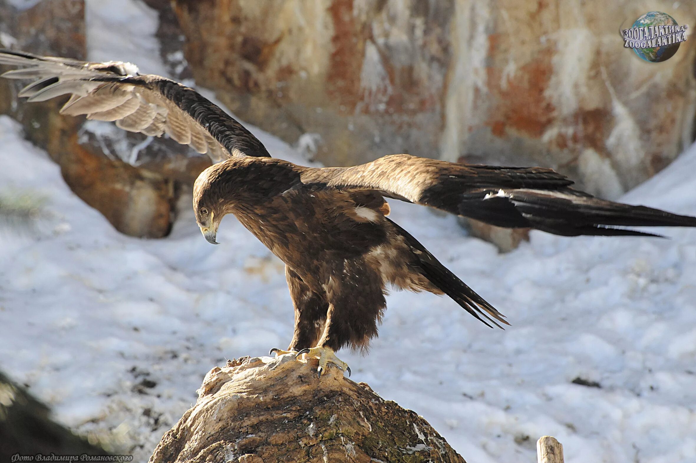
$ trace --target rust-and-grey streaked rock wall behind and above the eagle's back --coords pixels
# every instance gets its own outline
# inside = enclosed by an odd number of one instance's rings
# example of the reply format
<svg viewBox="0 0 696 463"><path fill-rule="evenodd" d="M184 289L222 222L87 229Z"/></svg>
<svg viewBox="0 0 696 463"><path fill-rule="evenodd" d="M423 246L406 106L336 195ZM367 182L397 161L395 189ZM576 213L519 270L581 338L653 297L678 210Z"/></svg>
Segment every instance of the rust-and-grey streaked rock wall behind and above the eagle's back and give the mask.
<svg viewBox="0 0 696 463"><path fill-rule="evenodd" d="M652 64L619 36L651 9L696 26L693 2L173 5L196 81L330 165L396 152L533 163L615 198L693 140L696 39Z"/></svg>

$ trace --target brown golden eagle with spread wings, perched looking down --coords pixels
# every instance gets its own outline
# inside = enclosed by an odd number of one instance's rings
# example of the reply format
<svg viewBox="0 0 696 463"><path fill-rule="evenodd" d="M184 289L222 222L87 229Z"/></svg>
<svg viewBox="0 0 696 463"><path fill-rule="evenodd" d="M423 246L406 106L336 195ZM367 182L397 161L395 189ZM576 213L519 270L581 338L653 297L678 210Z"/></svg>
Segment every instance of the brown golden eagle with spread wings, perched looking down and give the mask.
<svg viewBox="0 0 696 463"><path fill-rule="evenodd" d="M388 284L446 294L491 326L508 323L445 268L416 238L387 218L385 198L423 204L498 227L531 227L563 236L656 236L625 226L696 227L696 218L601 200L571 188L546 168L463 165L407 154L348 168L308 168L271 158L235 119L191 88L139 74L131 63L85 63L0 51L3 74L33 79L20 97L44 101L70 94L61 113L116 121L118 127L161 136L222 161L203 171L193 209L203 236L216 243L220 220L234 214L285 262L295 310L286 351L335 357L365 349L377 336Z"/></svg>

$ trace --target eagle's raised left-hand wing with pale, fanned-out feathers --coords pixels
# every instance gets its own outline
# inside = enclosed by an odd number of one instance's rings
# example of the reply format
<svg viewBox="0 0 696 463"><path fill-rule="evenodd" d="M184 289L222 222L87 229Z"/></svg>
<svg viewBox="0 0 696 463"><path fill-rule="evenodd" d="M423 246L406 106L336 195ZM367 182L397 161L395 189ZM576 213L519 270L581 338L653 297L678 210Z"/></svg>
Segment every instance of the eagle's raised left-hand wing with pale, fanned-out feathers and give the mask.
<svg viewBox="0 0 696 463"><path fill-rule="evenodd" d="M0 50L0 64L20 67L3 77L33 80L19 92L28 101L72 95L62 114L115 121L121 129L148 136L167 133L213 161L269 156L258 138L196 90L165 77L139 74L131 63L88 63Z"/></svg>

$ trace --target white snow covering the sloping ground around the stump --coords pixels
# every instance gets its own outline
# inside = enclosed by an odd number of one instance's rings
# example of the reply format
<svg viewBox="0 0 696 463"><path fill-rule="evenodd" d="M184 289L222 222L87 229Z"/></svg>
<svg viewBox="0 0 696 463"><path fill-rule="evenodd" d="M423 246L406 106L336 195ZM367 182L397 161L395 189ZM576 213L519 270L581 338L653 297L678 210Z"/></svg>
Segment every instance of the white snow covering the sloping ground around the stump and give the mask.
<svg viewBox="0 0 696 463"><path fill-rule="evenodd" d="M125 3L121 15L142 8ZM119 18L112 1L91 4L101 30ZM271 154L298 159L255 133ZM212 366L287 346L283 265L235 218L219 246L188 207L168 238L129 238L5 116L0 146L0 194L45 197L48 214L38 233L0 229L0 369L60 421L116 436L145 461ZM696 146L624 200L696 215L693 172ZM447 298L394 293L370 355L340 352L352 379L422 414L471 463L535 461L543 434L569 463L696 462L696 229L658 231L671 240L539 232L501 255L453 217L392 207L512 327L490 330Z"/></svg>

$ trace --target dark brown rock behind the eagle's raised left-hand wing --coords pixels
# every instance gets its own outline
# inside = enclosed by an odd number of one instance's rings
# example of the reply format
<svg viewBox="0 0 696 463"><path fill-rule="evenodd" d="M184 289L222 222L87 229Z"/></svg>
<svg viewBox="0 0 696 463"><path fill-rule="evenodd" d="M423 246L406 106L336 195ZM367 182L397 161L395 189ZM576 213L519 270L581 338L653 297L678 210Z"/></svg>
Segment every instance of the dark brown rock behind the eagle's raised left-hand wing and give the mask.
<svg viewBox="0 0 696 463"><path fill-rule="evenodd" d="M84 8L83 0L42 1L23 10L0 1L0 30L16 40L3 45L35 54L85 59ZM164 161L148 161L135 168L118 157L110 159L102 150L110 140L81 136L84 117L58 113L67 97L28 104L18 101L19 88L22 83L0 81L0 113L23 124L26 137L46 149L61 166L63 178L74 193L122 233L144 238L169 233L181 186L193 184L209 165L207 159L187 159L184 148L171 140L155 140L148 147L151 152L168 150L161 156ZM144 139L138 134L120 135L133 138L131 145Z"/></svg>

